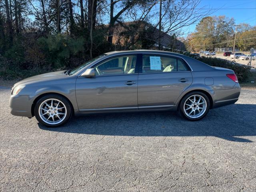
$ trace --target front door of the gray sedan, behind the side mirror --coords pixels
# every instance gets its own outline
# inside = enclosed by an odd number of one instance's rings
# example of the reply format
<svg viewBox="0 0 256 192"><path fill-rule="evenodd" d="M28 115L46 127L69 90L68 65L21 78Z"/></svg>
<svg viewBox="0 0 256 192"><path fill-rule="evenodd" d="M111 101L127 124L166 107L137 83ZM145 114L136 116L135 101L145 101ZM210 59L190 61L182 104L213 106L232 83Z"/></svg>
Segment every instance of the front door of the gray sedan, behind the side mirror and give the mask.
<svg viewBox="0 0 256 192"><path fill-rule="evenodd" d="M80 111L137 110L137 55L106 58L93 67L93 77L78 77L76 100Z"/></svg>

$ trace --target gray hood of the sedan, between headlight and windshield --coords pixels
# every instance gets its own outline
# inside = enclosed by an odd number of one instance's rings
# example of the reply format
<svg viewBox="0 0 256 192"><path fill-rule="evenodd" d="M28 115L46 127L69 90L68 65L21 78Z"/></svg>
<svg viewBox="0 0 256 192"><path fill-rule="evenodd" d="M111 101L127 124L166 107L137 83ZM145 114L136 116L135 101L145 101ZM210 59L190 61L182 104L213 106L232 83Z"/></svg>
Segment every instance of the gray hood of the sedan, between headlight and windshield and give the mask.
<svg viewBox="0 0 256 192"><path fill-rule="evenodd" d="M67 75L64 73L64 70L50 72L50 73L36 75L36 76L32 76L32 77L26 78L24 80L21 80L21 81L17 82L16 84L14 84L14 87L17 85L26 85L26 84L30 84L30 83L34 83L34 82L42 82L42 81L53 79L53 78L58 79L58 78L64 78L64 77L67 77Z"/></svg>

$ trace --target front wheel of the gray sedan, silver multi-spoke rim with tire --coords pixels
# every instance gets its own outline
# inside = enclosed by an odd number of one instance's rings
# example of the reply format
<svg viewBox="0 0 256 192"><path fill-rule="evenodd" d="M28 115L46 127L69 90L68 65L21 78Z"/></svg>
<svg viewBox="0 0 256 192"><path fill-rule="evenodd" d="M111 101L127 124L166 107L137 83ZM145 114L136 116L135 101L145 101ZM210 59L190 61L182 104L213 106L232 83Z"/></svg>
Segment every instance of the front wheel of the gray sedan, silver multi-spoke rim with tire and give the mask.
<svg viewBox="0 0 256 192"><path fill-rule="evenodd" d="M72 115L70 102L63 96L49 94L36 102L34 114L38 122L48 127L65 124Z"/></svg>

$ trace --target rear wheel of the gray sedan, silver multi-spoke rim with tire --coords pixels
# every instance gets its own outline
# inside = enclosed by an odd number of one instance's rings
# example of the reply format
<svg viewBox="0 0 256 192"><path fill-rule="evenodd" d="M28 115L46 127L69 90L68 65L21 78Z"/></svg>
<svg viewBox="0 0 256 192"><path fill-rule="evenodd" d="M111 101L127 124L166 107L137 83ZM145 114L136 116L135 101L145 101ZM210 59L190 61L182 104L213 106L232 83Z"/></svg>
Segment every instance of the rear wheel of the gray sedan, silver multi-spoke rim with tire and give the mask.
<svg viewBox="0 0 256 192"><path fill-rule="evenodd" d="M180 114L190 121L197 121L208 113L210 100L202 92L191 92L180 102Z"/></svg>

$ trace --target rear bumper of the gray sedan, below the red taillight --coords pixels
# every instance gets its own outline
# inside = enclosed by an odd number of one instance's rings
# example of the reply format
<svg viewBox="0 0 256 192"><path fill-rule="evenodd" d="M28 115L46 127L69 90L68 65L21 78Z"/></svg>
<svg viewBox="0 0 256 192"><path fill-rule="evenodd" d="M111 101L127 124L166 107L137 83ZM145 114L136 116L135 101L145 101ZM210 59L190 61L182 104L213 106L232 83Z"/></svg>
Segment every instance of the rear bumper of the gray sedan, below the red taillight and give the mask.
<svg viewBox="0 0 256 192"><path fill-rule="evenodd" d="M235 84L232 89L214 90L212 94L212 108L222 107L237 102L241 92L240 85Z"/></svg>

